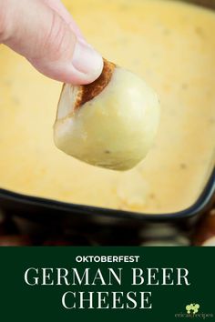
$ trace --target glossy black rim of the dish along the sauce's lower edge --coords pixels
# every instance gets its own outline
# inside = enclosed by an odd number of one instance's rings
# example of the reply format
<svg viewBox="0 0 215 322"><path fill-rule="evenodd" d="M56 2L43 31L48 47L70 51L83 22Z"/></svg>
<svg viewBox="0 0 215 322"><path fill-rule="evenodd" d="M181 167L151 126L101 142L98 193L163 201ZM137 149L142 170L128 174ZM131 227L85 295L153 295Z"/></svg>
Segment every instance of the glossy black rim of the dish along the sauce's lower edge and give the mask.
<svg viewBox="0 0 215 322"><path fill-rule="evenodd" d="M161 214L148 214L144 212L133 212L128 210L111 209L100 206L87 206L81 204L68 203L64 201L58 201L55 199L49 199L40 196L28 196L21 193L16 193L12 190L0 188L0 200L15 201L16 203L25 204L28 206L42 206L49 209L58 210L65 213L81 213L87 216L107 216L118 219L136 219L147 221L166 221L186 219L192 216L197 216L202 213L213 199L215 194L215 167L213 168L209 180L204 186L200 196L189 207L172 213ZM1 202L0 202L1 203Z"/></svg>

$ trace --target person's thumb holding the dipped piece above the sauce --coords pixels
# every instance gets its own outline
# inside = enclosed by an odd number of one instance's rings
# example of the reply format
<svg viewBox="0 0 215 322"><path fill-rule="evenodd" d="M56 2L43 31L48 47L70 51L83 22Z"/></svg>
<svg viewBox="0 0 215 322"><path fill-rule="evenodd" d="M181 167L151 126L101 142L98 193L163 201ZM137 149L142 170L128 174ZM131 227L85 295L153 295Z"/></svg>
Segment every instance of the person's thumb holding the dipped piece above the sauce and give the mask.
<svg viewBox="0 0 215 322"><path fill-rule="evenodd" d="M101 55L41 0L2 0L0 28L0 42L48 77L80 85L101 74Z"/></svg>

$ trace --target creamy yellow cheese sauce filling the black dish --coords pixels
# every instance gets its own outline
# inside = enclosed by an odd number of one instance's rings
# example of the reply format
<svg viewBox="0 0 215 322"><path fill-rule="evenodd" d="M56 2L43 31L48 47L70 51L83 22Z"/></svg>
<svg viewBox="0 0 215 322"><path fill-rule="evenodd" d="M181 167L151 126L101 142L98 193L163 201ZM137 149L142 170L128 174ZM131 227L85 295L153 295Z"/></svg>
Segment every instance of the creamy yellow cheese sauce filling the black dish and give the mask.
<svg viewBox="0 0 215 322"><path fill-rule="evenodd" d="M64 1L88 41L158 93L152 150L119 173L58 151L61 84L0 47L0 186L31 196L147 213L193 204L214 164L215 14L173 1Z"/></svg>

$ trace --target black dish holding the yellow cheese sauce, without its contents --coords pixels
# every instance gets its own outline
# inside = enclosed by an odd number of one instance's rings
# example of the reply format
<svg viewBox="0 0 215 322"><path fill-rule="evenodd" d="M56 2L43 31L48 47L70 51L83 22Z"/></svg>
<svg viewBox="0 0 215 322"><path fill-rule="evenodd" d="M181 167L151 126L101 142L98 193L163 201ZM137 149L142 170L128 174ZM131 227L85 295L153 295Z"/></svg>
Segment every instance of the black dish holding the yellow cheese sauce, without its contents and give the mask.
<svg viewBox="0 0 215 322"><path fill-rule="evenodd" d="M214 1L193 0L188 1L198 5L215 8ZM13 191L0 189L0 208L9 214L22 216L29 220L40 223L65 223L75 225L81 223L120 223L138 226L139 223L151 222L180 222L195 221L210 207L215 193L215 169L201 192L196 202L187 209L172 214L145 214L101 208L96 206L76 205L72 203L59 202L56 200L40 198L36 196L25 196Z"/></svg>

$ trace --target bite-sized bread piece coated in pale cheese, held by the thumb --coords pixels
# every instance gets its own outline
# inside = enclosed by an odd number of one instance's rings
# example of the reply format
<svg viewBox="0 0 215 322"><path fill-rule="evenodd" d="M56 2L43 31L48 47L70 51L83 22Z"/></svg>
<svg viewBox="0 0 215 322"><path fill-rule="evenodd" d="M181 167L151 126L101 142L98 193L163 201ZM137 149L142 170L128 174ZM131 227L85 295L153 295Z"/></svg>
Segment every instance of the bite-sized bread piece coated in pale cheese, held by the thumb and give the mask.
<svg viewBox="0 0 215 322"><path fill-rule="evenodd" d="M105 61L94 83L63 86L54 140L90 165L128 170L147 155L158 126L155 92L138 75Z"/></svg>

